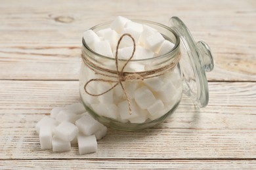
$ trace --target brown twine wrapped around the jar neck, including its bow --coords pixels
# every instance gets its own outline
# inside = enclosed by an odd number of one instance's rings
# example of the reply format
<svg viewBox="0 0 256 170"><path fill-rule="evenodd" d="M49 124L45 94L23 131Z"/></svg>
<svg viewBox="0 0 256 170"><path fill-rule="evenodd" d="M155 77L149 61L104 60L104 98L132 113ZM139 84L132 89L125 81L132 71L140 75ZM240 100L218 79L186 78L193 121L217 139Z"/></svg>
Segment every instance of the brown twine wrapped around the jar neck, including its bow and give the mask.
<svg viewBox="0 0 256 170"><path fill-rule="evenodd" d="M125 64L121 68L121 71L119 71L118 49L119 49L119 44L120 44L121 40L125 36L130 37L133 41L133 53L131 54L131 57L129 59L127 59L127 61L125 62ZM181 58L181 55L179 54L179 57L176 58L173 62L169 63L168 65L165 65L165 66L160 67L158 69L152 69L150 71L141 71L141 72L135 72L135 73L124 72L123 70L125 69L126 65L129 63L129 61L131 61L131 59L133 58L133 56L135 54L135 50L136 50L135 39L133 39L133 37L129 33L123 34L119 38L119 40L117 42L117 46L116 46L116 57L115 57L115 59L116 59L116 71L99 67L98 65L95 65L93 62L89 61L89 59L85 58L85 56L82 55L83 62L85 63L85 65L87 65L89 67L89 69L95 71L95 73L98 73L98 74L104 75L104 76L108 76L108 77L116 77L117 78L117 80L107 80L107 79L103 79L103 78L92 78L91 80L86 82L86 84L84 86L85 92L89 95L92 95L92 96L99 96L99 95L103 95L104 93L110 92L110 90L114 89L118 84L120 84L120 86L123 90L123 93L125 95L125 99L127 100L127 103L128 103L128 106L129 106L129 114L132 114L131 101L130 101L130 99L127 95L127 92L126 92L126 90L123 86L123 82L125 82L127 80L144 80L145 78L152 78L152 77L155 77L155 76L164 75L167 71L173 69L173 67L175 67L175 65L179 62L179 59ZM100 73L98 71L103 71L104 73L112 73L112 74L115 74L116 76L111 76L109 74ZM156 73L160 73L161 71L165 71L165 72L161 73L161 74L158 74L158 75L155 75ZM98 94L93 94L93 93L90 93L90 92L87 91L87 86L90 82L114 82L116 84L114 84L112 86L112 88L106 90L105 92L98 93Z"/></svg>

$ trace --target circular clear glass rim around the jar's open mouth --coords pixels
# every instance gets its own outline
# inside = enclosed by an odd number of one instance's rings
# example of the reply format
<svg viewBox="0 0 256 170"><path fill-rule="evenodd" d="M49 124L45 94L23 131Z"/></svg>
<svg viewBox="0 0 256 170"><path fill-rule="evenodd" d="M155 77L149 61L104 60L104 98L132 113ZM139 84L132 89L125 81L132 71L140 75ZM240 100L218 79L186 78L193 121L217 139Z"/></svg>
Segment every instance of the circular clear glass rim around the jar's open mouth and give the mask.
<svg viewBox="0 0 256 170"><path fill-rule="evenodd" d="M173 33L173 35L175 35L175 38L176 38L176 42L175 42L175 46L173 46L173 48L167 52L166 54L162 54L160 56L156 56L154 58L145 58L145 59L131 59L130 62L133 62L133 61L154 61L154 60L157 60L157 59L162 59L162 58L165 58L167 56L172 56L172 58L175 57L175 54L177 52L177 50L179 50L179 44L180 44L180 38L179 38L179 35L177 35L177 33L175 33L175 31L171 28L171 27L168 27L166 25L163 25L163 24L160 24L158 22L152 22L152 21L148 21L148 20L131 20L133 22L140 22L140 23L148 23L148 24L153 24L153 25L158 25L160 27L163 27L165 29L167 29L168 31L170 31L171 33ZM107 24L110 24L112 21L108 21L108 22L104 22L104 23L101 23L101 24L97 24L93 27L91 27L90 29L94 30L98 27L102 27L103 25L107 25ZM92 50L88 45L87 43L85 42L85 39L83 39L82 37L82 43L83 43L83 47L87 48L87 50L89 50L90 52L92 52L93 54L95 54L96 56L100 57L100 58L104 58L104 59L110 59L110 60L115 60L115 58L110 58L110 57L107 57L107 56L103 56L101 54L98 54L97 52L95 52L94 50ZM127 59L118 59L120 61L127 61Z"/></svg>

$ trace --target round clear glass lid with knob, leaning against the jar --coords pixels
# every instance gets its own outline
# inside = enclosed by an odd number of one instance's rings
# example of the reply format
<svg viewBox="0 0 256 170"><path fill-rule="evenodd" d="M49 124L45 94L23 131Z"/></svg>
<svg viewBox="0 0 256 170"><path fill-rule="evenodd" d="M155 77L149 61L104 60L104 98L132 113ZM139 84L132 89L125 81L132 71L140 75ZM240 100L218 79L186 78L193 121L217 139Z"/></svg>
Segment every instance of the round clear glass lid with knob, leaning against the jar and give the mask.
<svg viewBox="0 0 256 170"><path fill-rule="evenodd" d="M180 60L183 75L183 92L188 95L199 107L205 107L209 101L209 90L205 71L213 70L214 61L209 46L203 42L194 42L194 39L181 19L173 16L169 20L171 27L181 38L188 55L182 55Z"/></svg>

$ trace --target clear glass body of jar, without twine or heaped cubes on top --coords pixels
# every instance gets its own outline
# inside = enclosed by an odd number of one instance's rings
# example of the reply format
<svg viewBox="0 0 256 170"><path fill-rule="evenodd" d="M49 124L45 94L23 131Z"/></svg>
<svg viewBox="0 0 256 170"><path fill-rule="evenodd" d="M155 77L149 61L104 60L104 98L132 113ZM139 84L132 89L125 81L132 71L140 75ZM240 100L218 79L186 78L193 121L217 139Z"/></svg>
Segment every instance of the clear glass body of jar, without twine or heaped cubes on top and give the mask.
<svg viewBox="0 0 256 170"><path fill-rule="evenodd" d="M139 22L158 29L166 39L175 44L175 47L163 56L131 60L126 66L124 66L126 61L120 60L119 68L125 67L124 71L127 73L152 71L165 67L179 57L179 38L169 27L154 22ZM108 24L98 25L93 29L105 27L108 27ZM96 54L89 49L85 41L83 41L82 55L93 65L84 61L81 63L79 75L81 100L89 113L105 126L127 131L144 129L160 124L177 109L182 97L182 74L179 63L173 65L171 69L155 73L150 78L123 80L120 84L114 74L97 69L101 67L115 71L115 59ZM85 92L85 88L87 92L95 95ZM131 103L131 112L128 101Z"/></svg>

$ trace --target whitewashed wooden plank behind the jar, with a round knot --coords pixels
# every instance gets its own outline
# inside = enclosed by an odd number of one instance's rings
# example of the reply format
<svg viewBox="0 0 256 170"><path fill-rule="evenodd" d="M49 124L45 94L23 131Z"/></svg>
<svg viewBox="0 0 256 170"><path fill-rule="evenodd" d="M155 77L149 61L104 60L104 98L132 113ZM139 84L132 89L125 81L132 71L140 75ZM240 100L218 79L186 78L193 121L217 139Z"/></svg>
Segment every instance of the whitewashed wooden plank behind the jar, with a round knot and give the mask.
<svg viewBox="0 0 256 170"><path fill-rule="evenodd" d="M49 2L51 7L45 8ZM83 31L119 14L165 25L171 16L180 16L194 38L208 42L213 50L216 66L209 80L256 81L255 1L193 4L5 0L0 7L0 79L77 80Z"/></svg>

